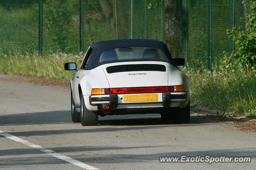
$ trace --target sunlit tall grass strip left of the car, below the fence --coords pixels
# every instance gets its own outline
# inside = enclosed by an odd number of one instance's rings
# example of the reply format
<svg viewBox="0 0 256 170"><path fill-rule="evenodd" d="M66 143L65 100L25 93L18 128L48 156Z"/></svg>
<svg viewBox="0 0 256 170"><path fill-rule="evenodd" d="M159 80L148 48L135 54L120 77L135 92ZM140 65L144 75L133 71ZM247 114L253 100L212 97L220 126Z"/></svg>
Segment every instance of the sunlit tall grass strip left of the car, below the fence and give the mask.
<svg viewBox="0 0 256 170"><path fill-rule="evenodd" d="M80 66L83 57L74 54L48 53L39 57L38 54L0 55L0 72L19 74L58 80L70 80L73 71L65 71L64 63L75 62Z"/></svg>

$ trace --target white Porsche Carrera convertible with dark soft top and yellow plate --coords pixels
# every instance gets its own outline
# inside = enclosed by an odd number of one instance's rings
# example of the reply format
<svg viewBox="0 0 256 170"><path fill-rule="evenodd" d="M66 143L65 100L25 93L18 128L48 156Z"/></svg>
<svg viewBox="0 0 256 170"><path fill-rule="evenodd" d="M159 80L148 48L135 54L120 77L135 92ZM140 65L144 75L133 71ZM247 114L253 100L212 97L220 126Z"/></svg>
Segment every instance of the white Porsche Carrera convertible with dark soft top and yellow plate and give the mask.
<svg viewBox="0 0 256 170"><path fill-rule="evenodd" d="M73 122L97 125L98 115L160 113L176 123L190 120L189 79L167 46L156 40L122 39L92 44L75 70L71 88Z"/></svg>

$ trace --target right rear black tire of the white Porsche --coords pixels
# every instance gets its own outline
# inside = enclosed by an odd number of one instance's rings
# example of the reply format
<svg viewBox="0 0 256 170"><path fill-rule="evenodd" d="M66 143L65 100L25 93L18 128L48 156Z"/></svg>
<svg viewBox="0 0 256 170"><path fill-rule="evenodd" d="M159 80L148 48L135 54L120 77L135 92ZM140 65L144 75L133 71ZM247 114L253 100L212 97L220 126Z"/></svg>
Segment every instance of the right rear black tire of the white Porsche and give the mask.
<svg viewBox="0 0 256 170"><path fill-rule="evenodd" d="M184 108L174 107L174 122L175 123L188 123L190 120L190 102Z"/></svg>

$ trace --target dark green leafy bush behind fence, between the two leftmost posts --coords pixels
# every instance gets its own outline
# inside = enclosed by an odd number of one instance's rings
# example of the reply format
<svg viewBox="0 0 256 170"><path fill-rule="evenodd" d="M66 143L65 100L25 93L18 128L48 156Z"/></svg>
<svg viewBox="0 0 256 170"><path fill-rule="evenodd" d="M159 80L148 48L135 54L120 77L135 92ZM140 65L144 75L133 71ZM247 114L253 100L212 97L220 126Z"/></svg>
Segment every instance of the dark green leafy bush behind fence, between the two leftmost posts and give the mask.
<svg viewBox="0 0 256 170"><path fill-rule="evenodd" d="M59 0L47 0L46 4L49 5L43 13L45 32L51 35L54 45L57 45L61 51L65 51L67 37L70 33L68 29L71 23L70 12Z"/></svg>

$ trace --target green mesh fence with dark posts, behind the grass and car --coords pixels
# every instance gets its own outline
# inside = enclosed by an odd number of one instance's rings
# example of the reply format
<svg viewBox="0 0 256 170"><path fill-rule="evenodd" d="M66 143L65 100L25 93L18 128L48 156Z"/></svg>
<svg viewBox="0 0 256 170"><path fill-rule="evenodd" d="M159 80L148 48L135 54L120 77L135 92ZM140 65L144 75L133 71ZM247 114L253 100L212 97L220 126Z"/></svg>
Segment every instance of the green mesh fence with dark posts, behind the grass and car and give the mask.
<svg viewBox="0 0 256 170"><path fill-rule="evenodd" d="M207 65L235 48L226 29L245 27L247 13L242 0L0 0L0 52L38 51L40 39L43 53L158 39L174 58Z"/></svg>

